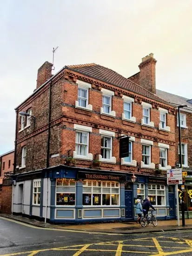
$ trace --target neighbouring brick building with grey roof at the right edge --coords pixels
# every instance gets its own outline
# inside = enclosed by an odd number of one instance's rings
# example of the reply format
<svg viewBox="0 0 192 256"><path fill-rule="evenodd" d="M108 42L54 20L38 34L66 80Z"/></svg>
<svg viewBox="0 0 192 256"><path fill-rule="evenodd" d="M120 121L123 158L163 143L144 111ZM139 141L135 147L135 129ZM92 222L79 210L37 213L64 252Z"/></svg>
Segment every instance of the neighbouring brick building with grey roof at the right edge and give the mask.
<svg viewBox="0 0 192 256"><path fill-rule="evenodd" d="M164 100L171 102L176 108L185 106L180 110L180 124L181 124L181 151L182 151L182 166L187 171L185 177L185 197L186 204L185 217L192 218L192 100L181 97L179 95L170 94L164 91L157 90L157 95ZM175 158L176 165L179 163L179 130L178 130L178 116L175 119L175 140L176 150ZM179 186L179 196L182 190Z"/></svg>

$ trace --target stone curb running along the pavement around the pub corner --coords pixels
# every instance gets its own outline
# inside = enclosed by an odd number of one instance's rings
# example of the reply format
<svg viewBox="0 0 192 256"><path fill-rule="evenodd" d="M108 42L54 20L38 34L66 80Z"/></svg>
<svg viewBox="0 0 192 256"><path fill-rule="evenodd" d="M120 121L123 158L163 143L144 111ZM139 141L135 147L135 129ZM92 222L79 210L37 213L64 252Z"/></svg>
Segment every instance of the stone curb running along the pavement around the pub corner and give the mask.
<svg viewBox="0 0 192 256"><path fill-rule="evenodd" d="M61 230L66 230L66 231L79 231L79 229L65 229L65 228L60 228L59 226L58 227L51 227L51 224L50 224L50 227L44 227L40 224L36 224L36 223L31 223L31 222L27 222L26 220L18 220L17 218L13 218L11 216L3 216L0 214L1 217L4 217L4 218L7 218L7 219L12 219L12 220L15 220L15 221L18 221L18 222L23 222L23 223L26 223L26 224L29 224L29 225L32 225L32 226L35 226L35 227L39 227L39 228L43 228L43 229L61 229ZM107 231L104 231L104 230L99 230L99 231L92 231L92 230L86 230L86 229L81 229L80 231L86 231L86 232L96 232L96 233L110 233L110 234L121 234L121 235L132 235L132 234L147 234L147 233L160 233L160 232L166 232L166 231L179 231L179 230L191 230L192 227L183 227L183 228L173 228L173 229L157 229L157 230L144 230L144 229L140 229L139 230L129 230L129 231L125 231L125 232L115 232L114 231L111 231L111 230L107 230Z"/></svg>

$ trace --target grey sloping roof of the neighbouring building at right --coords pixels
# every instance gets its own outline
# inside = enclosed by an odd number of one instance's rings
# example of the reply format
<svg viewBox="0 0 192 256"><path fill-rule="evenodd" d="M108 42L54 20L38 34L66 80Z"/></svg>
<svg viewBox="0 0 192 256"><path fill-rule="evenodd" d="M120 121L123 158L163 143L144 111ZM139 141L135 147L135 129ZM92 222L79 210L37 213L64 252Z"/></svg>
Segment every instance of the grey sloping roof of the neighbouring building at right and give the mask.
<svg viewBox="0 0 192 256"><path fill-rule="evenodd" d="M192 108L192 104L189 102L190 99L187 99L185 97L181 97L175 94L170 94L161 90L156 90L156 94L162 99L164 99L165 101L168 101L175 106L187 105L188 108Z"/></svg>

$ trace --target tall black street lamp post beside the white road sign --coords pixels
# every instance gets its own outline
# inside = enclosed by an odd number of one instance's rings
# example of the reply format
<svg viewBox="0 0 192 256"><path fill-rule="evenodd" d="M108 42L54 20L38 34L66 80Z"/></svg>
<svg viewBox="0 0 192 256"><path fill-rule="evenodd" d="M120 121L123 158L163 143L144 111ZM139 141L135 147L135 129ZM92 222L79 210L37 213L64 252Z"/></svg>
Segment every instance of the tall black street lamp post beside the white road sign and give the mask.
<svg viewBox="0 0 192 256"><path fill-rule="evenodd" d="M181 151L181 122L180 122L180 108L185 108L187 105L178 106L178 124L179 124L179 163L180 168L182 168L182 151ZM185 226L185 203L184 199L184 191L182 195L182 202L181 202L181 213L182 213L182 226Z"/></svg>

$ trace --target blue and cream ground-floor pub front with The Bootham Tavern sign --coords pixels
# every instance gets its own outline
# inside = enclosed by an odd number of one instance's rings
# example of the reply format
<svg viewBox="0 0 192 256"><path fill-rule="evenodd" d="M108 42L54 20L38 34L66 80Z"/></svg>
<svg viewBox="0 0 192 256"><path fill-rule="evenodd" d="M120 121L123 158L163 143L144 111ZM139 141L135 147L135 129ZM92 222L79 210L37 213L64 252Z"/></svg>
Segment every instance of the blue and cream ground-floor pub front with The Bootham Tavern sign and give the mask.
<svg viewBox="0 0 192 256"><path fill-rule="evenodd" d="M60 165L13 180L14 214L54 223L134 220L136 199L148 195L158 218L169 219L166 179Z"/></svg>

